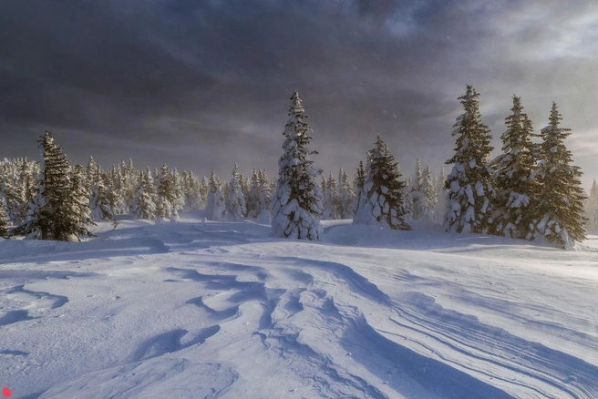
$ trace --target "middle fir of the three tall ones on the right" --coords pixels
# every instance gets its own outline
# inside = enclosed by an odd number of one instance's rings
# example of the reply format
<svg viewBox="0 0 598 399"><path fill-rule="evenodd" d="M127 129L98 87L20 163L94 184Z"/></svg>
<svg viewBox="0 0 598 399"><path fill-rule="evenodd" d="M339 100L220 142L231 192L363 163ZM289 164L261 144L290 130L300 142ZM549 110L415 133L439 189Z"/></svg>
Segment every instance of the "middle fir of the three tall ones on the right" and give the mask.
<svg viewBox="0 0 598 399"><path fill-rule="evenodd" d="M535 145L531 142L531 120L523 112L521 97L513 96L507 130L500 137L503 153L494 160L497 192L495 232L505 237L531 239L532 201L539 192L539 181L531 179L536 168Z"/></svg>

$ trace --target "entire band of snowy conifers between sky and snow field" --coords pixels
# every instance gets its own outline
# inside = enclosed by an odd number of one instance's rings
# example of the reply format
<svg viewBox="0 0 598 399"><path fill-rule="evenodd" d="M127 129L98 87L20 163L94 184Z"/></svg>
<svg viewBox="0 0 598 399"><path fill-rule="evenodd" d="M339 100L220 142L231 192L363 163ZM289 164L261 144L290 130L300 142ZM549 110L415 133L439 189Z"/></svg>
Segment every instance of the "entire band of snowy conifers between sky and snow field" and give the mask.
<svg viewBox="0 0 598 399"><path fill-rule="evenodd" d="M536 133L521 97L513 97L502 153L492 159L479 93L468 86L459 97L464 113L453 131L448 175L420 159L415 173L402 174L380 136L354 174L342 168L324 174L310 158L317 152L308 147L312 129L303 102L296 92L291 99L277 178L265 169L243 176L236 163L226 180L213 170L200 178L167 165L136 169L130 160L110 169L93 158L87 167L72 166L46 132L39 161L0 161L0 237L80 240L92 236L88 228L97 221L131 215L176 222L188 210L202 210L208 220L272 223L274 236L307 240L321 240L320 220L334 219L400 230L424 220L447 231L541 239L562 248L585 238L586 221L598 230L598 184L594 180L586 197L581 170L564 143L570 129L560 127L554 103L549 125Z"/></svg>

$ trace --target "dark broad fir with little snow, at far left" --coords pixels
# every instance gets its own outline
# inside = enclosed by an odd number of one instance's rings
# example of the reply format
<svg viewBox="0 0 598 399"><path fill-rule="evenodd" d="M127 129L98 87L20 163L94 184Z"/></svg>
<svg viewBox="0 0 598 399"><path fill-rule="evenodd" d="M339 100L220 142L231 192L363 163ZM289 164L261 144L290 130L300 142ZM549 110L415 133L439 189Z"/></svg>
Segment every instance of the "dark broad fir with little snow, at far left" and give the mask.
<svg viewBox="0 0 598 399"><path fill-rule="evenodd" d="M30 203L26 220L13 232L38 240L80 240L83 235L92 237L86 225L88 222L91 224L91 220L85 214L78 188L73 186L67 156L49 132L39 143L42 162L37 194ZM81 178L74 178L76 185L80 186ZM88 192L85 196L85 205L88 205Z"/></svg>

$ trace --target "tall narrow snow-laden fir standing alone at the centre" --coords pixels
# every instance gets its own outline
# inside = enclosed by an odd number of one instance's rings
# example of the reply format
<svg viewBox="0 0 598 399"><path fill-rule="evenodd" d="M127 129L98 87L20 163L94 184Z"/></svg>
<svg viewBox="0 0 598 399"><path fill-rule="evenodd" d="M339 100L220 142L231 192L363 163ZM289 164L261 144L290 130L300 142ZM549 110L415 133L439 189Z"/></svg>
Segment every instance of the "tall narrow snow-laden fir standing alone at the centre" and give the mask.
<svg viewBox="0 0 598 399"><path fill-rule="evenodd" d="M322 240L322 192L315 179L308 148L311 128L305 121L304 106L298 93L291 97L289 120L284 129L284 153L278 161L278 182L273 196L273 237Z"/></svg>

